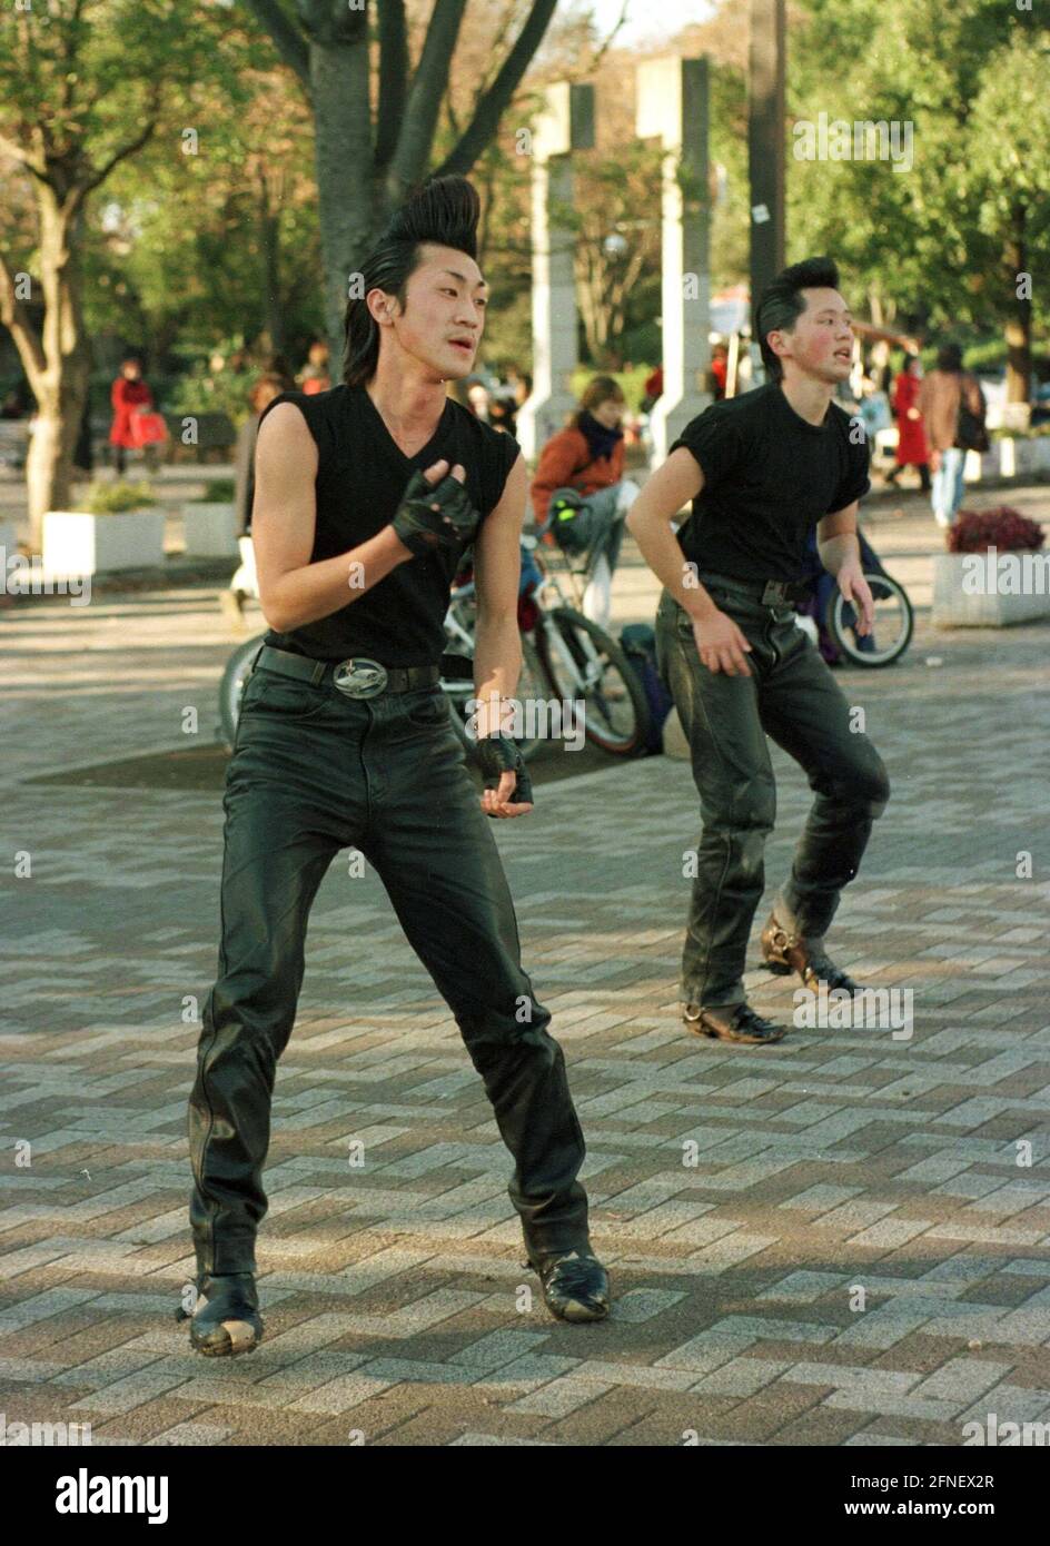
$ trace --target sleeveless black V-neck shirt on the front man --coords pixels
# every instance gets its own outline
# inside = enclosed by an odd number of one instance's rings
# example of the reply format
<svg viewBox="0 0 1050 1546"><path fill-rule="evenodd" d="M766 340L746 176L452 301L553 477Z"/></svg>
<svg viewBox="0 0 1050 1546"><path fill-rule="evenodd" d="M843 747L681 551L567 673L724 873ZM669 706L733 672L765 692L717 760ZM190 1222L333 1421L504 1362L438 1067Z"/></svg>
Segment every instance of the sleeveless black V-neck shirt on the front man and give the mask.
<svg viewBox="0 0 1050 1546"><path fill-rule="evenodd" d="M317 442L314 484L317 524L311 563L334 558L390 526L413 472L442 458L462 462L467 493L484 516L503 498L520 445L492 430L453 397L445 399L433 438L414 456L405 456L363 386L332 386L312 394L286 391L278 402L302 410ZM441 659L448 592L459 566L459 550L438 549L399 564L371 591L315 623L286 634L271 629L266 643L315 660L368 656L387 666L428 666Z"/></svg>

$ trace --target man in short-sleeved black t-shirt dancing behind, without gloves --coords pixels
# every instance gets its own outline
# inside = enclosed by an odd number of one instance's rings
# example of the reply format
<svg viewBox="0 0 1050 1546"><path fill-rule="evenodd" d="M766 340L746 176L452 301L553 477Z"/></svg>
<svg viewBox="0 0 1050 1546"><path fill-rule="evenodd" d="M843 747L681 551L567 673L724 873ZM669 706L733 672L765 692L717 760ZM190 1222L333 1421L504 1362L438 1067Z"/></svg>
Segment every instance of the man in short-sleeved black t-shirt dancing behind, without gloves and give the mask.
<svg viewBox="0 0 1050 1546"><path fill-rule="evenodd" d="M806 543L858 614L874 621L857 541L869 448L860 419L832 402L849 379L852 318L829 258L784 269L755 323L769 380L713 404L671 445L628 515L663 581L657 654L690 737L704 830L682 952L684 1019L725 1042L778 1042L786 1027L744 993L762 898L776 785L765 737L806 771L815 799L792 872L762 931L770 971L812 993L860 993L824 948L840 894L860 867L889 779L809 637L795 626ZM676 533L673 518L691 501Z"/></svg>

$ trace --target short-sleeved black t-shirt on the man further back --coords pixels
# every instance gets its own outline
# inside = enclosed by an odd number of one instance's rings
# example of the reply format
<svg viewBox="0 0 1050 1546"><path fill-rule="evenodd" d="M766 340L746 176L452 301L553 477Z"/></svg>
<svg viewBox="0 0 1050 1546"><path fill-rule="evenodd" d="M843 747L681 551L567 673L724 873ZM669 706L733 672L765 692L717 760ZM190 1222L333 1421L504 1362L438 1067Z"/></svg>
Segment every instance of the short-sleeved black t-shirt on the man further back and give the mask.
<svg viewBox="0 0 1050 1546"><path fill-rule="evenodd" d="M711 404L685 425L704 487L679 530L687 560L735 580L798 580L806 538L823 516L871 489L863 425L838 404L823 424L801 419L770 382ZM670 455L668 451L668 455Z"/></svg>

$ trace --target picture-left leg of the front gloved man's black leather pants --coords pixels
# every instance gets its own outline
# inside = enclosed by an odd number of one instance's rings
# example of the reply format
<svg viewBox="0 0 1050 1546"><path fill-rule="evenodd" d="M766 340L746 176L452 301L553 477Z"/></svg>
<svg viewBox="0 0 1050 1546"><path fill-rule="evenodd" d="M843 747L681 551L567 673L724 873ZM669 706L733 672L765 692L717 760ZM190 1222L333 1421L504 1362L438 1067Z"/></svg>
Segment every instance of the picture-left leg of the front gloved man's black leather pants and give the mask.
<svg viewBox="0 0 1050 1546"><path fill-rule="evenodd" d="M255 1271L277 1061L303 983L309 909L363 824L351 781L332 779L332 711L319 691L277 682L249 679L223 798L218 977L189 1101L198 1272Z"/></svg>

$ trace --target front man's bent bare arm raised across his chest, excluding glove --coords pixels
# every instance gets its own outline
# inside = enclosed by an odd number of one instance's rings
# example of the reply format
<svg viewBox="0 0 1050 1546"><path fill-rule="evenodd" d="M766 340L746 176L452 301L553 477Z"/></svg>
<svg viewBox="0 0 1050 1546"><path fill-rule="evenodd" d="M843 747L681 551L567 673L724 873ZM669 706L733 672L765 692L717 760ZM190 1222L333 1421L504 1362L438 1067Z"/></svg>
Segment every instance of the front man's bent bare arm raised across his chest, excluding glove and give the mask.
<svg viewBox="0 0 1050 1546"><path fill-rule="evenodd" d="M444 464L439 464L442 475ZM331 617L411 553L391 526L345 553L312 564L317 444L302 411L278 402L255 442L252 546L263 617L278 634Z"/></svg>

